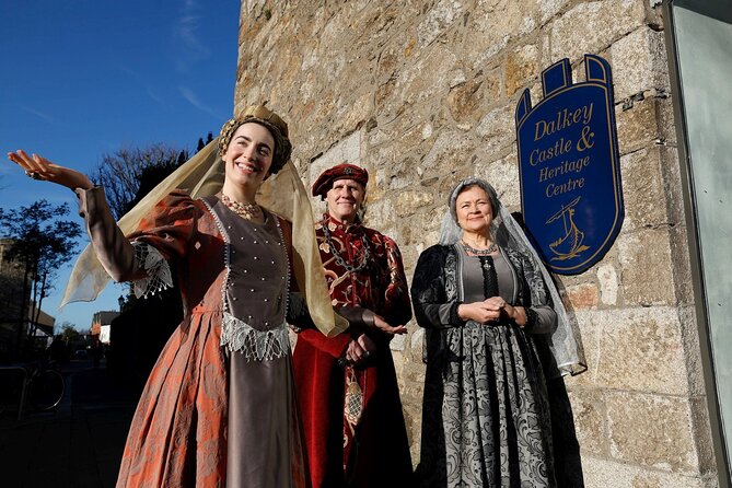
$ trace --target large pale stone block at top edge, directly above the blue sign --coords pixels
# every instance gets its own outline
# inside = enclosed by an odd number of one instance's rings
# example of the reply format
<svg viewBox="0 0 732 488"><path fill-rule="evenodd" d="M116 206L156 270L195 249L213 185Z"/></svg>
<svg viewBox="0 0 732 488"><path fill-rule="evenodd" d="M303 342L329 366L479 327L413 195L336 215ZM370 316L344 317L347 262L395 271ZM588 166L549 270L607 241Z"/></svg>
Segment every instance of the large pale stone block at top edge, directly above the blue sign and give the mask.
<svg viewBox="0 0 732 488"><path fill-rule="evenodd" d="M585 53L601 53L643 25L644 18L643 2L639 0L578 3L548 24L551 32L551 62L562 58L574 62ZM613 78L618 78L617 72L614 72ZM618 96L617 88L615 96Z"/></svg>

